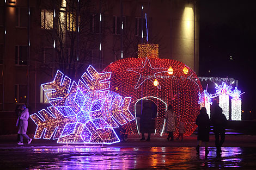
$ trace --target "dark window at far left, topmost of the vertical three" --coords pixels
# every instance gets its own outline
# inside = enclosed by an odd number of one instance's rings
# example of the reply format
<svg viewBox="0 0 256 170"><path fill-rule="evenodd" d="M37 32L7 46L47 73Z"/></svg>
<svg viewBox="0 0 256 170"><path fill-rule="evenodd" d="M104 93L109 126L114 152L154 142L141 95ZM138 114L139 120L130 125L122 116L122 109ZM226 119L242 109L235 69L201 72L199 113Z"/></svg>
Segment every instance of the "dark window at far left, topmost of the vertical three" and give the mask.
<svg viewBox="0 0 256 170"><path fill-rule="evenodd" d="M28 9L16 8L16 27L28 26Z"/></svg>

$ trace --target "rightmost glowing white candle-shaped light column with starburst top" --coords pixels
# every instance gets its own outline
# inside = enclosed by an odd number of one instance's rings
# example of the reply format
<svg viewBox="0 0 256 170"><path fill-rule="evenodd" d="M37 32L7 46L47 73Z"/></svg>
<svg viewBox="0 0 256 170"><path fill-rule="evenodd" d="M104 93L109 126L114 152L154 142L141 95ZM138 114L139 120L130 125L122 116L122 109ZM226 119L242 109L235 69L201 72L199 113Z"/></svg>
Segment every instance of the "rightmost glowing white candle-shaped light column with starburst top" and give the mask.
<svg viewBox="0 0 256 170"><path fill-rule="evenodd" d="M244 92L243 92L244 93ZM235 87L235 90L231 92L231 119L233 121L241 121L241 114L242 114L242 99L240 98L243 94L240 90Z"/></svg>

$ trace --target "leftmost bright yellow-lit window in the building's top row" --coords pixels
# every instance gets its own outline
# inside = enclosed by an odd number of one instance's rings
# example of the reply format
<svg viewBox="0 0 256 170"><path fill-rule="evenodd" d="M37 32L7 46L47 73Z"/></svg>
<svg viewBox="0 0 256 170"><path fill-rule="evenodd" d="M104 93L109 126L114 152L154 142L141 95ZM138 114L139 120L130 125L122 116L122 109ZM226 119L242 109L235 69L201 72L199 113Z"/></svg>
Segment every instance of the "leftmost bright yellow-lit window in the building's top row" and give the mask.
<svg viewBox="0 0 256 170"><path fill-rule="evenodd" d="M46 9L41 10L41 28L53 29L53 11Z"/></svg>

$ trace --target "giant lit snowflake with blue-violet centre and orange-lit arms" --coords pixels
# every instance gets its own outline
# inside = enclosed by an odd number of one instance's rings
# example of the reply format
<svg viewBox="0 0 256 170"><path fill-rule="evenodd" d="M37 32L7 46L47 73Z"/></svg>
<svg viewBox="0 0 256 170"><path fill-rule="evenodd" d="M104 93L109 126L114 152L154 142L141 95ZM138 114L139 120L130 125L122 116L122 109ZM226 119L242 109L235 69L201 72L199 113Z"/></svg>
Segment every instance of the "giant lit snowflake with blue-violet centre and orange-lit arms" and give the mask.
<svg viewBox="0 0 256 170"><path fill-rule="evenodd" d="M42 84L51 107L31 115L37 125L34 138L58 139L57 143L116 143L113 128L133 119L130 97L109 91L111 72L98 73L92 66L78 83L57 71Z"/></svg>

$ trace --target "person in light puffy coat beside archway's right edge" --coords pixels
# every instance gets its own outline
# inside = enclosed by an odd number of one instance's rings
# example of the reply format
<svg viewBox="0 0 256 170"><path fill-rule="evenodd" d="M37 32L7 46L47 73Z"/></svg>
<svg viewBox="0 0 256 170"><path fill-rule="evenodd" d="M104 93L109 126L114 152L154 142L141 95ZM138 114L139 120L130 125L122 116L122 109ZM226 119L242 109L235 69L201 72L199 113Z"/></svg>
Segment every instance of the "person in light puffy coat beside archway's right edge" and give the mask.
<svg viewBox="0 0 256 170"><path fill-rule="evenodd" d="M173 141L173 133L176 128L177 118L176 118L176 114L173 112L172 105L168 106L168 109L165 114L165 118L166 118L166 131L168 132L167 140Z"/></svg>

